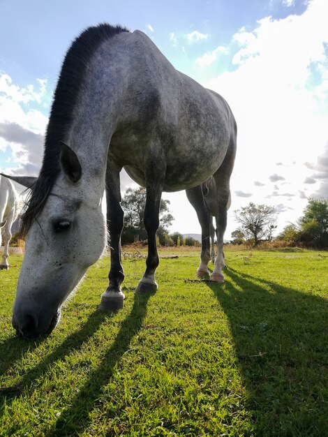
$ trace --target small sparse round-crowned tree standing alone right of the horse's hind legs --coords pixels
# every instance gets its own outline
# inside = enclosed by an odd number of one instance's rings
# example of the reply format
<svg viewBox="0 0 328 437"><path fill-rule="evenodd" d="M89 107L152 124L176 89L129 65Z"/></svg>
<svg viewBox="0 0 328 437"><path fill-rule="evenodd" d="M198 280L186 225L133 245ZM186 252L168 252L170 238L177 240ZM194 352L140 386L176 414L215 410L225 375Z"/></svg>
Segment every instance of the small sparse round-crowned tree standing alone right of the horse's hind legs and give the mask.
<svg viewBox="0 0 328 437"><path fill-rule="evenodd" d="M251 202L247 207L234 211L236 221L241 225L241 231L253 240L254 246L261 241L271 241L276 229L276 209L269 205L255 205Z"/></svg>

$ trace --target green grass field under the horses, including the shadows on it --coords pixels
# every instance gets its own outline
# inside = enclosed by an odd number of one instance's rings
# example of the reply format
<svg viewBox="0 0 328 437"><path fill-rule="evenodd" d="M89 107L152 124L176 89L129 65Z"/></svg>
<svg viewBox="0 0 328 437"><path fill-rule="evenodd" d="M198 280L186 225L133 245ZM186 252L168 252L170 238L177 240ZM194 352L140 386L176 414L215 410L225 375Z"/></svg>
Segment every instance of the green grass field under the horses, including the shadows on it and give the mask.
<svg viewBox="0 0 328 437"><path fill-rule="evenodd" d="M172 251L172 249L170 249ZM99 260L43 339L10 325L22 262L0 271L0 436L328 436L328 253L228 251L226 282L197 253L163 252L158 292L97 310Z"/></svg>

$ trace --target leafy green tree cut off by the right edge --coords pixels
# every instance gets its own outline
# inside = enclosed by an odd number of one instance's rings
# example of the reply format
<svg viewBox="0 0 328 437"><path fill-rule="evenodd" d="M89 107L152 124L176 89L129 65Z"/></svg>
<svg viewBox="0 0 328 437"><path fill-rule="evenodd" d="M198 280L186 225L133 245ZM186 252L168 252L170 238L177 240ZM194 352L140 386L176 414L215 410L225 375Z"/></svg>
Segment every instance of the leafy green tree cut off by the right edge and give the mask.
<svg viewBox="0 0 328 437"><path fill-rule="evenodd" d="M328 200L309 199L299 218L299 241L318 249L328 247Z"/></svg>

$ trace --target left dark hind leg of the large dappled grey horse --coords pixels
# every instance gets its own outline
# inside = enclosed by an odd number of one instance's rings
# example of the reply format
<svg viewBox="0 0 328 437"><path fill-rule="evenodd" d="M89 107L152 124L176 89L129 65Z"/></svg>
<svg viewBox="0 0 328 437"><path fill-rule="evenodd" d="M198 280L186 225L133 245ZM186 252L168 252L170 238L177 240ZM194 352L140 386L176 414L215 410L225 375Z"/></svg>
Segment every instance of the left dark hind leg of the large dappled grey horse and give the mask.
<svg viewBox="0 0 328 437"><path fill-rule="evenodd" d="M204 196L202 194L202 187L195 186L195 188L189 188L186 190L186 195L191 202L191 205L195 208L197 213L198 221L202 228L202 248L200 251L200 267L197 269L197 276L199 278L209 276L208 264L211 259L209 251L209 226L211 223L211 217L209 215L209 207L204 202Z"/></svg>

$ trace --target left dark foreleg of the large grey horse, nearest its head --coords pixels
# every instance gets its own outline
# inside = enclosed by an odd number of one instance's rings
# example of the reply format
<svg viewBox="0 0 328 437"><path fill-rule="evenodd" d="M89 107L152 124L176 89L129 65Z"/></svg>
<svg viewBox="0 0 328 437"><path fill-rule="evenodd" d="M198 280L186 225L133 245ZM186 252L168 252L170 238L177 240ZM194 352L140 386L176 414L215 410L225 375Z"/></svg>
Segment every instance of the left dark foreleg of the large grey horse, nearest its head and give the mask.
<svg viewBox="0 0 328 437"><path fill-rule="evenodd" d="M110 243L110 280L109 286L101 295L100 309L110 311L123 307L124 293L121 283L124 272L121 265L121 232L124 225L124 212L121 209L121 194L119 186L119 171L114 165L107 166L106 172L106 200L107 200L107 228Z"/></svg>

